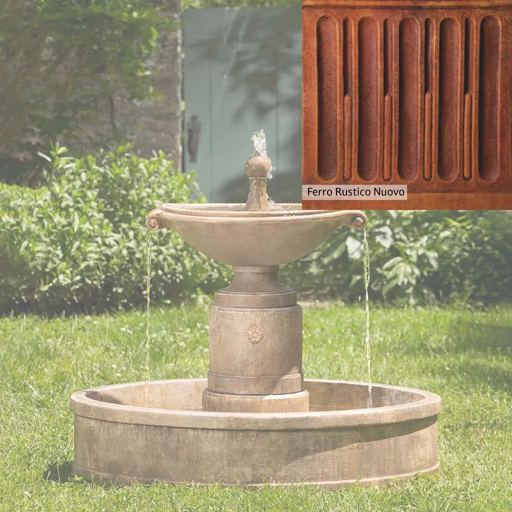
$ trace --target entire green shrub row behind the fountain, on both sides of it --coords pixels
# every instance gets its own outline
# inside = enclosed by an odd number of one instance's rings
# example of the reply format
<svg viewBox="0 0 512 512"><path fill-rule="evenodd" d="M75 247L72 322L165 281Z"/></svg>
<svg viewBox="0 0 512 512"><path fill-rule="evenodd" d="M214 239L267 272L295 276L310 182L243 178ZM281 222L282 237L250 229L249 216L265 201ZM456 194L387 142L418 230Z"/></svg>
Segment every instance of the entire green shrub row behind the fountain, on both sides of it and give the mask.
<svg viewBox="0 0 512 512"><path fill-rule="evenodd" d="M161 202L194 202L193 176L160 153L129 148L73 158L56 145L47 186L0 184L0 313L104 311L145 302L144 218ZM371 298L394 304L512 301L512 215L506 211L370 211ZM231 270L172 230L151 235L152 301L225 286ZM362 232L338 230L281 270L316 296L364 295Z"/></svg>

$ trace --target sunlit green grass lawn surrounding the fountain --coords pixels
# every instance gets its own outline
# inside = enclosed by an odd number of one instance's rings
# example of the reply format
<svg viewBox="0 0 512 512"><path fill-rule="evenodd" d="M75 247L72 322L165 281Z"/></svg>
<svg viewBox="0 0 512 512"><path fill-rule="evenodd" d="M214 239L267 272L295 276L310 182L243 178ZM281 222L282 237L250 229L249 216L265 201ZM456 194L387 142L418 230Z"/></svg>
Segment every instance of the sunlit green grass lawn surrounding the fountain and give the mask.
<svg viewBox="0 0 512 512"><path fill-rule="evenodd" d="M364 308L305 309L306 377L366 380ZM207 311L154 310L152 379L206 376ZM142 312L0 319L0 510L512 510L512 307L372 309L372 380L441 395L440 471L386 487L95 486L70 474L72 392L145 378Z"/></svg>

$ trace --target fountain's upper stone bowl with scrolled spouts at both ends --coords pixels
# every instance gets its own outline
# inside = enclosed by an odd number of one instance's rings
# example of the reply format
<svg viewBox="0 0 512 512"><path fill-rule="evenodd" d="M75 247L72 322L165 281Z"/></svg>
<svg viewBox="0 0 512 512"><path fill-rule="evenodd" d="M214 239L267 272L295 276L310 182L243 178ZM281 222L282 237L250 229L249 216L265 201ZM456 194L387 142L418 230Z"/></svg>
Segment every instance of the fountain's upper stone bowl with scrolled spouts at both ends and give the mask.
<svg viewBox="0 0 512 512"><path fill-rule="evenodd" d="M269 210L245 204L161 204L146 217L151 230L173 228L207 257L232 266L276 266L302 258L340 226L362 229L361 210L303 210L276 204Z"/></svg>

